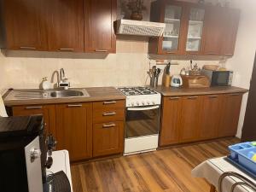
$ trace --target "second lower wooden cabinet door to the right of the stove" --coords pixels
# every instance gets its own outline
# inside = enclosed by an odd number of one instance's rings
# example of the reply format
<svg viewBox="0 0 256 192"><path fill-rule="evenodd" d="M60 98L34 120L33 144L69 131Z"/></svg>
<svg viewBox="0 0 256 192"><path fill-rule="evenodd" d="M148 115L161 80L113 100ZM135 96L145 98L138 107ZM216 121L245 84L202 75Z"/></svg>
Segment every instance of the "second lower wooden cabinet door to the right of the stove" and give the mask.
<svg viewBox="0 0 256 192"><path fill-rule="evenodd" d="M192 142L199 138L201 96L184 96L181 119L178 123L179 142Z"/></svg>

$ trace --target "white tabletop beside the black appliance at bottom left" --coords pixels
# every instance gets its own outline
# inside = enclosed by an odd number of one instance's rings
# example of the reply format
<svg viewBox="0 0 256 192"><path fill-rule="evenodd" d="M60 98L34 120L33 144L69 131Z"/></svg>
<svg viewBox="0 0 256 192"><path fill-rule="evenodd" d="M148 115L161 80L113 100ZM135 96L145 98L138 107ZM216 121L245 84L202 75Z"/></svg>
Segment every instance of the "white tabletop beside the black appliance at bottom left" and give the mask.
<svg viewBox="0 0 256 192"><path fill-rule="evenodd" d="M69 154L67 150L54 151L52 153L53 165L47 169L47 174L63 171L69 180L73 192L72 178L70 172Z"/></svg>

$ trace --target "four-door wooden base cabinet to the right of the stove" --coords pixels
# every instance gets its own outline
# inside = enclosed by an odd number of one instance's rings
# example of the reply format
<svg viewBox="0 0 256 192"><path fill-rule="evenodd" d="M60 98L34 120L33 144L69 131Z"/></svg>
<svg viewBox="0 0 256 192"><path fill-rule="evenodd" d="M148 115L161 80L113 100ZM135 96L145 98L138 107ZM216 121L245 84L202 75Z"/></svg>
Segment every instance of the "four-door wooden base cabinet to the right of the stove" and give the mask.
<svg viewBox="0 0 256 192"><path fill-rule="evenodd" d="M160 146L234 137L242 94L163 98Z"/></svg>

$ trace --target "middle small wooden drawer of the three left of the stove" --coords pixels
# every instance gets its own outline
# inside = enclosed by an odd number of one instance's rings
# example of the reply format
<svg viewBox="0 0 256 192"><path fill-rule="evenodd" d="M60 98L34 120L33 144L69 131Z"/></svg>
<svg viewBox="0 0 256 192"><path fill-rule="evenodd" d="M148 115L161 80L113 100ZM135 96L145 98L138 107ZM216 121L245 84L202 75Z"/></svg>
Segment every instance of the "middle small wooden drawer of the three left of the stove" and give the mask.
<svg viewBox="0 0 256 192"><path fill-rule="evenodd" d="M113 120L124 120L125 108L109 108L93 110L93 122L108 122Z"/></svg>

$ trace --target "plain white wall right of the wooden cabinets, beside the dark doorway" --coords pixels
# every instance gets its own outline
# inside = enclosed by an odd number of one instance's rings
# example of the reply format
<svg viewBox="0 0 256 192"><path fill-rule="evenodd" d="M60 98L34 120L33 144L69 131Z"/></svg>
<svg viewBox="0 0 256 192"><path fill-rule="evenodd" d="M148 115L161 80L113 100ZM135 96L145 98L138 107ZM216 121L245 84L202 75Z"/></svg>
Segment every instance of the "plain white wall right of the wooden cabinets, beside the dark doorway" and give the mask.
<svg viewBox="0 0 256 192"><path fill-rule="evenodd" d="M227 61L227 67L235 72L233 84L249 89L256 50L256 2L255 0L233 0L231 5L241 9L241 20L236 38L235 55ZM246 106L247 94L242 100L237 137L241 137Z"/></svg>

